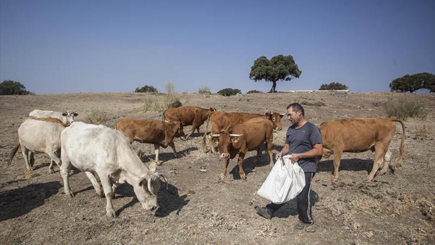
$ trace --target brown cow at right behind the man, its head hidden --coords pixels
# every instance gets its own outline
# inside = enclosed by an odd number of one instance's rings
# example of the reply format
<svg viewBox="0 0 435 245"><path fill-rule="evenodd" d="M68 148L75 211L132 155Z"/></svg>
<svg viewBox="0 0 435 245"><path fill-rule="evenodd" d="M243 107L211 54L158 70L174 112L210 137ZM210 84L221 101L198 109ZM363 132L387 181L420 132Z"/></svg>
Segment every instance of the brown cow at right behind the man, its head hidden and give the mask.
<svg viewBox="0 0 435 245"><path fill-rule="evenodd" d="M369 149L375 151L375 159L367 181L373 179L382 164L380 173L385 174L388 170L388 161L384 161L384 156L386 159L389 157L386 153L396 133L394 122L399 122L403 131L399 155L392 165L396 167L401 165L405 147L405 126L402 121L390 118L347 118L321 123L319 128L323 140L323 157L328 158L334 153L332 179L338 178L342 152L363 152Z"/></svg>

